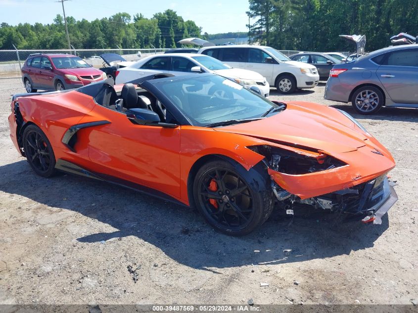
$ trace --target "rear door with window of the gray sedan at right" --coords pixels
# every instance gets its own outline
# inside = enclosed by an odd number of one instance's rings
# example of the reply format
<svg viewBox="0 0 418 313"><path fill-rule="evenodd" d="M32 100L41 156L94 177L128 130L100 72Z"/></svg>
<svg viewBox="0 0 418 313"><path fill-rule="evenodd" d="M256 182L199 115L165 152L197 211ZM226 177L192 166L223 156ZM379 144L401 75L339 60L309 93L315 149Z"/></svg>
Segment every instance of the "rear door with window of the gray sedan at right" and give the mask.
<svg viewBox="0 0 418 313"><path fill-rule="evenodd" d="M372 59L376 75L394 102L418 103L418 48L401 49ZM377 64L379 64L377 63Z"/></svg>

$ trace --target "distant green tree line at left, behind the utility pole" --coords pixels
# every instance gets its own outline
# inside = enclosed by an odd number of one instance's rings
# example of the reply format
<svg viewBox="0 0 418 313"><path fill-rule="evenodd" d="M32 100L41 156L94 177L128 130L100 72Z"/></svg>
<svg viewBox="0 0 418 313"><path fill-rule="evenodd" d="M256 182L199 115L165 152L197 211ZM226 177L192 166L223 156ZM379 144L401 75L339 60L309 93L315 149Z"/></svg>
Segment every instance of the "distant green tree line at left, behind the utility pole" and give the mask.
<svg viewBox="0 0 418 313"><path fill-rule="evenodd" d="M174 48L187 37L201 37L201 27L171 9L150 19L142 14L121 12L109 18L76 21L66 18L71 45L76 49ZM58 14L52 24L0 24L0 49L67 49L64 18Z"/></svg>

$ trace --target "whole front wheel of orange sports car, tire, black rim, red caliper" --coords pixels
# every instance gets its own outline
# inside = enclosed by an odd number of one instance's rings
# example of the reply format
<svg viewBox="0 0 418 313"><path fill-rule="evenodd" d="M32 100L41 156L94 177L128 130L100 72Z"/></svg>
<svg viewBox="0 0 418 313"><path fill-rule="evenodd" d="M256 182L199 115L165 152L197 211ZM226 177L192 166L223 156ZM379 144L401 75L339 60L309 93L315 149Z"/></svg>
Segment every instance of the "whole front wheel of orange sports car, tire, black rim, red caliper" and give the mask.
<svg viewBox="0 0 418 313"><path fill-rule="evenodd" d="M219 160L203 165L193 181L194 203L217 231L242 236L261 226L273 210L268 177L254 168Z"/></svg>

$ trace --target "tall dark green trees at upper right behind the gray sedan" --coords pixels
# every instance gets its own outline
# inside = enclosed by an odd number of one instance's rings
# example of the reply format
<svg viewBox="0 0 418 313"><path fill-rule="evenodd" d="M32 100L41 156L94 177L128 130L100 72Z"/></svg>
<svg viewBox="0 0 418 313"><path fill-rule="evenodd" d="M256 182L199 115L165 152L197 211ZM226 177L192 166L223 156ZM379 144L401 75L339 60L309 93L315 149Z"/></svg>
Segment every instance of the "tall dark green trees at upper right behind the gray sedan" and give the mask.
<svg viewBox="0 0 418 313"><path fill-rule="evenodd" d="M283 50L347 51L338 35L366 35L366 51L418 35L418 0L249 0L252 42Z"/></svg>

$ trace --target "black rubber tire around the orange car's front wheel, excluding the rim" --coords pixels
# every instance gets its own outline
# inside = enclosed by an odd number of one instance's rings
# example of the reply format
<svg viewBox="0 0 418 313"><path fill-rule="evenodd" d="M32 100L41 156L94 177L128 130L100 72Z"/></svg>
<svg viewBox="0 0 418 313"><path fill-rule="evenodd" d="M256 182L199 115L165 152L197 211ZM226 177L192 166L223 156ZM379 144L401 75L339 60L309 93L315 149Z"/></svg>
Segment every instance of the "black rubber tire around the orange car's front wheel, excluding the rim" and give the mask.
<svg viewBox="0 0 418 313"><path fill-rule="evenodd" d="M266 196L265 193L266 193L266 190L268 190L268 186L266 186L266 182L268 178L263 177L261 173L259 173L254 168L250 169L249 171L246 171L240 164L238 163L234 164L234 163L236 162L232 160L226 161L226 160L219 159L219 160L211 161L211 162L204 164L196 173L196 176L193 180L192 190L193 190L193 199L194 199L195 206L197 210L202 214L202 216L204 217L204 219L206 220L208 224L210 224L213 228L215 228L215 230L219 232L222 232L228 235L233 235L233 236L242 236L242 235L246 235L252 232L255 228L263 224L268 218L268 216L266 218L266 215L270 215L271 213L270 208L265 208L265 205L264 205L265 203L264 197ZM223 227L220 227L216 224L215 221L213 221L212 218L209 217L209 214L206 211L206 209L201 207L200 201L197 195L200 179L204 177L207 172L213 170L214 168L227 169L237 174L237 176L239 176L240 179L245 181L245 183L249 187L249 192L251 193L251 196L252 196L254 212L253 212L251 221L249 222L249 224L247 224L247 226L245 226L245 228L233 230L233 229L225 229ZM263 190L263 189L266 189L266 190ZM271 198L270 205L272 205L272 201L273 200ZM266 211L269 211L268 214Z"/></svg>

